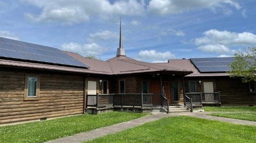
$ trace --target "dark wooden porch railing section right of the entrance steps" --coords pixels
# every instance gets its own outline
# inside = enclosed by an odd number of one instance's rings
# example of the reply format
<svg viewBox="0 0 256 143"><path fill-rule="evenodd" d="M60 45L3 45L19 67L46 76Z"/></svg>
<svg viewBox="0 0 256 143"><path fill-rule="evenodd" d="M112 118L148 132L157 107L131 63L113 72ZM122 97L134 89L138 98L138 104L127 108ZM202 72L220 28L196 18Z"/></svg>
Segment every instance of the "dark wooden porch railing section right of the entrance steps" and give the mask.
<svg viewBox="0 0 256 143"><path fill-rule="evenodd" d="M193 104L220 103L220 92L215 93L185 93L192 99Z"/></svg>

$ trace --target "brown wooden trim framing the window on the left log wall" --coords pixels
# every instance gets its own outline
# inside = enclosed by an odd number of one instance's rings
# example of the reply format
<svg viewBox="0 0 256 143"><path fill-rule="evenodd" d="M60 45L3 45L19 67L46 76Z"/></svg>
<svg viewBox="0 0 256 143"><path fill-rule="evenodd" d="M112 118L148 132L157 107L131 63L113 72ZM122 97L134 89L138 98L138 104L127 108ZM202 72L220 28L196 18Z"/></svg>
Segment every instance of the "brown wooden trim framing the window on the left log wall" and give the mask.
<svg viewBox="0 0 256 143"><path fill-rule="evenodd" d="M36 96L28 96L28 78L29 77L37 77ZM25 74L24 100L39 100L39 92L40 92L40 75L39 74Z"/></svg>

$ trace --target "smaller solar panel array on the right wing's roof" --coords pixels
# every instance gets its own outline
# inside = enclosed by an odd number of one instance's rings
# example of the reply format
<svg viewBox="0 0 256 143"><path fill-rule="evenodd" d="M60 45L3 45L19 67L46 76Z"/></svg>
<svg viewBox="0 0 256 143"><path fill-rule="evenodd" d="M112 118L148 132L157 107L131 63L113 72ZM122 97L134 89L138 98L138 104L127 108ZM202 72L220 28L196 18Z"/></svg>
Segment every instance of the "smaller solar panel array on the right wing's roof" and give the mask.
<svg viewBox="0 0 256 143"><path fill-rule="evenodd" d="M234 58L192 58L190 60L200 72L226 72L230 70L229 65Z"/></svg>

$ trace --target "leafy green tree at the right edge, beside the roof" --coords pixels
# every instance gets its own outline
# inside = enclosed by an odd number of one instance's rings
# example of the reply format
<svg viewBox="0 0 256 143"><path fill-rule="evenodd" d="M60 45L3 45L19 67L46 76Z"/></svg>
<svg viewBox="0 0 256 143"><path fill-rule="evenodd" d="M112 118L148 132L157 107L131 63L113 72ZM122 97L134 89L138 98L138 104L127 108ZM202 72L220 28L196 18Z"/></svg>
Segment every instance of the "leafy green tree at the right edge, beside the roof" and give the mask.
<svg viewBox="0 0 256 143"><path fill-rule="evenodd" d="M243 82L256 81L256 46L248 47L246 53L234 53L230 67L230 77L241 77Z"/></svg>

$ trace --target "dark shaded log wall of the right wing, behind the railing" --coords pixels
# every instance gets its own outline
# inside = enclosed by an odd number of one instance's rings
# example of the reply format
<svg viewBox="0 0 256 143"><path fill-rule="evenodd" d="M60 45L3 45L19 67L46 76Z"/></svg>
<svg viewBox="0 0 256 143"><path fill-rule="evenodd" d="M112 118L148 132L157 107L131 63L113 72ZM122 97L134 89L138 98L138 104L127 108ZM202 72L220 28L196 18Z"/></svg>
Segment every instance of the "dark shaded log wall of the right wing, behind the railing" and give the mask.
<svg viewBox="0 0 256 143"><path fill-rule="evenodd" d="M196 82L196 92L204 92L203 82L213 82L214 92L220 91L222 105L255 105L256 93L249 92L249 84L240 78L185 77L185 93L189 93L189 81ZM199 83L201 81L201 84Z"/></svg>

